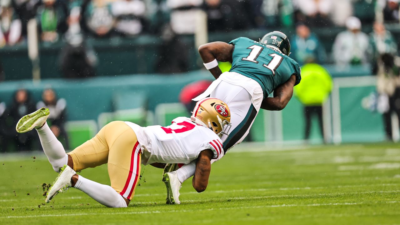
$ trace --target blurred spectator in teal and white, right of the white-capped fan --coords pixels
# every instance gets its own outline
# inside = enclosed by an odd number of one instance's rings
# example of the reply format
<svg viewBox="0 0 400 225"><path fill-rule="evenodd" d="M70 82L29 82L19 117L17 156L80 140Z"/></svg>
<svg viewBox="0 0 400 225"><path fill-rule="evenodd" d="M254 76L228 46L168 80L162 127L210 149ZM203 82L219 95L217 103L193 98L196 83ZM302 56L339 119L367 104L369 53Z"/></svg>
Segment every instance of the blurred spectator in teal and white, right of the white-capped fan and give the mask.
<svg viewBox="0 0 400 225"><path fill-rule="evenodd" d="M397 43L392 34L385 29L384 24L375 22L374 32L370 34L370 46L370 54L374 63L373 73L376 74L378 58L385 53L397 55Z"/></svg>

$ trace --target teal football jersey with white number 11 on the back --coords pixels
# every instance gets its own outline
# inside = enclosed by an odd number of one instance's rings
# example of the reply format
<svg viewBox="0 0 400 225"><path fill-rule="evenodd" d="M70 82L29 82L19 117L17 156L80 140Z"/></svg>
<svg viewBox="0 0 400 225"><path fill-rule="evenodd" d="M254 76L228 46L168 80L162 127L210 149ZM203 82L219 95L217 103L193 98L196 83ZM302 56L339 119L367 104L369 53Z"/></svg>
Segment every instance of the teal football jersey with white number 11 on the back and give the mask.
<svg viewBox="0 0 400 225"><path fill-rule="evenodd" d="M300 66L289 56L249 38L236 38L229 42L234 44L232 68L237 72L256 80L264 92L264 98L274 89L296 75L296 84L300 80Z"/></svg>

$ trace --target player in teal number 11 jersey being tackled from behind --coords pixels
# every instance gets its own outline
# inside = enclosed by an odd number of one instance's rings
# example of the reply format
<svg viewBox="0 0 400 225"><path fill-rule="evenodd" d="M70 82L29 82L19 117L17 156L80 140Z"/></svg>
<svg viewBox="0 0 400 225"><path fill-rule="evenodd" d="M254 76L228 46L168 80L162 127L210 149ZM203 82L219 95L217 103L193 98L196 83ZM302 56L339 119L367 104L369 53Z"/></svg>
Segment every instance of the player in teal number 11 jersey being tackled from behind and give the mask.
<svg viewBox="0 0 400 225"><path fill-rule="evenodd" d="M258 42L249 38L236 38L229 43L203 44L199 53L204 66L216 78L209 88L193 100L206 96L219 98L229 105L231 129L223 135L224 152L239 144L248 135L260 108L282 110L293 95L293 87L301 80L300 66L289 57L290 42L286 34L270 32ZM229 72L222 73L218 61L232 63ZM271 93L272 97L268 97ZM219 159L219 158L218 158ZM217 161L213 159L211 163ZM183 183L194 175L195 163L168 164L164 173L176 176ZM176 170L176 171L175 171ZM179 187L167 187L167 203L174 203ZM178 193L172 196L171 193Z"/></svg>

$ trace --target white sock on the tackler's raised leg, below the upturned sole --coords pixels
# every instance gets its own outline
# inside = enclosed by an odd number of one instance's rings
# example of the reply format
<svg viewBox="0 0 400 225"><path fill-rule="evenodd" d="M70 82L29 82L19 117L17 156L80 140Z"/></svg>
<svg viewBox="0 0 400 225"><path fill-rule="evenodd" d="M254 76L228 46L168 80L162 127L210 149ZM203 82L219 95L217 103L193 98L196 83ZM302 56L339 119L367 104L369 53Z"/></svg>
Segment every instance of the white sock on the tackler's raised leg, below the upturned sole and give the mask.
<svg viewBox="0 0 400 225"><path fill-rule="evenodd" d="M58 173L60 167L63 167L68 163L68 155L65 153L64 147L50 130L47 122L44 123L43 127L36 129L36 131L38 131L44 154L46 154L54 171Z"/></svg>

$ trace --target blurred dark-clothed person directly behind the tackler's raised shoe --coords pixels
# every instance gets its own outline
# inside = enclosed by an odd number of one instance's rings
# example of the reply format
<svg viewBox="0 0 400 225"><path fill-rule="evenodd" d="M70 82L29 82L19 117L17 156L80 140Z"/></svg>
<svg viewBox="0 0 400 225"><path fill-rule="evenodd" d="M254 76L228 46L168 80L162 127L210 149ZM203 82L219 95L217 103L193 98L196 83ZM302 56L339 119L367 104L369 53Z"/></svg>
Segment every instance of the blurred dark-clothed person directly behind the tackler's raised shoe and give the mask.
<svg viewBox="0 0 400 225"><path fill-rule="evenodd" d="M10 119L7 120L12 121L11 126L8 127L8 132L12 133L15 138L14 141L18 151L30 151L36 142L37 135L34 132L17 134L15 131L15 125L18 120L35 110L36 108L30 100L29 92L25 89L17 90L14 95L14 102L10 107Z"/></svg>

